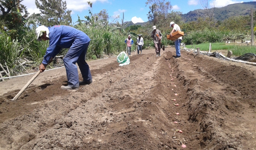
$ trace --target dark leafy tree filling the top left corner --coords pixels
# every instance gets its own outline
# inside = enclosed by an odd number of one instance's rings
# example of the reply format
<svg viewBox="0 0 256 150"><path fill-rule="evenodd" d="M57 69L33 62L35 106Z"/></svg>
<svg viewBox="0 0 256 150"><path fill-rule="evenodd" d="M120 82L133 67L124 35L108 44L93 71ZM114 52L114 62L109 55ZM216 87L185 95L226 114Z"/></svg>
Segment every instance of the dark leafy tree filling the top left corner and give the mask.
<svg viewBox="0 0 256 150"><path fill-rule="evenodd" d="M4 20L5 29L17 29L28 16L23 0L0 0L0 20Z"/></svg>

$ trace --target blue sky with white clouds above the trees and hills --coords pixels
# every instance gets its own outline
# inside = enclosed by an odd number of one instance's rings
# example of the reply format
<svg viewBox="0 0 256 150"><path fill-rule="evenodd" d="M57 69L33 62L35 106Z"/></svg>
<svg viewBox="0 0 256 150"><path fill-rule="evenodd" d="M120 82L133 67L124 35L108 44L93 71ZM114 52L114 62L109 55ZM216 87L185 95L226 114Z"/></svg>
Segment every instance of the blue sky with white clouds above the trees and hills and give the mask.
<svg viewBox="0 0 256 150"><path fill-rule="evenodd" d="M73 23L77 21L80 16L81 19L84 19L84 16L88 15L89 5L87 4L89 0L66 0L67 9L71 10L71 17ZM145 2L147 0L90 0L93 3L93 13L99 13L102 9L107 10L110 16L120 16L120 19L123 17L125 21L132 21L133 23L137 22L146 22L147 14L149 11L148 6L146 6ZM167 1L167 0L166 0ZM169 0L171 5L173 6L173 11L180 11L183 14L188 13L189 11L193 11L195 9L202 9L200 4L200 0ZM256 0L215 0L215 7L223 7L228 4L240 3L240 2L249 2ZM212 5L213 1L209 0L209 6ZM24 0L22 2L25 6L27 6L28 12L32 14L40 13L40 11L35 6L34 2L31 0ZM119 19L119 21L120 21Z"/></svg>

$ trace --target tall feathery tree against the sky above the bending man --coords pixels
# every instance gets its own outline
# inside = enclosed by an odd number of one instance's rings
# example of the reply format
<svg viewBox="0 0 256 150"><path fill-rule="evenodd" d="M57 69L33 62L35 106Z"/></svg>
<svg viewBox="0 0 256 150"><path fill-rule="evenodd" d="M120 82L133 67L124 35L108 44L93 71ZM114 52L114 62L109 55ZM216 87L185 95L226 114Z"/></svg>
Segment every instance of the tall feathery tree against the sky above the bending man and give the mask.
<svg viewBox="0 0 256 150"><path fill-rule="evenodd" d="M71 11L67 10L66 1L62 0L35 0L35 5L40 9L40 12L44 15L55 15L52 18L41 20L40 24L46 26L54 25L71 25Z"/></svg>

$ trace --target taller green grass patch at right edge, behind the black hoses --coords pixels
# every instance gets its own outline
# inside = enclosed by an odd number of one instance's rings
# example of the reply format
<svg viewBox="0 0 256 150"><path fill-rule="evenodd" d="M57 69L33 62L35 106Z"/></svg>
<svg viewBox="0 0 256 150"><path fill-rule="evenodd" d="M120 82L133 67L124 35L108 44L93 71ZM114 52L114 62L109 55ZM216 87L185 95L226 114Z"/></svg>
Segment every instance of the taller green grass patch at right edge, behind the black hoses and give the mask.
<svg viewBox="0 0 256 150"><path fill-rule="evenodd" d="M234 47L229 48L228 50L231 50L234 56L242 56L246 53L256 54L256 46L235 45Z"/></svg>

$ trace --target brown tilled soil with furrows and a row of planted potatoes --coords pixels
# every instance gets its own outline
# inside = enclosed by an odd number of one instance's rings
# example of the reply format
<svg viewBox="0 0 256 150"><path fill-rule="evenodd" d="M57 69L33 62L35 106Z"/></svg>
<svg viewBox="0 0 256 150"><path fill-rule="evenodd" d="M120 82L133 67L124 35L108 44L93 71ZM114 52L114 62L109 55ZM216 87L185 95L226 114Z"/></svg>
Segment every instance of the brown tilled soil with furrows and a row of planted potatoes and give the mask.
<svg viewBox="0 0 256 150"><path fill-rule="evenodd" d="M0 150L255 150L256 67L161 55L91 61L93 83L79 90L60 89L64 68L46 71L15 102L33 75L0 82Z"/></svg>

